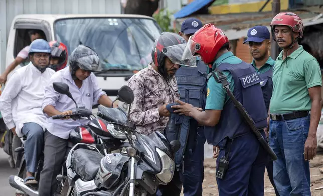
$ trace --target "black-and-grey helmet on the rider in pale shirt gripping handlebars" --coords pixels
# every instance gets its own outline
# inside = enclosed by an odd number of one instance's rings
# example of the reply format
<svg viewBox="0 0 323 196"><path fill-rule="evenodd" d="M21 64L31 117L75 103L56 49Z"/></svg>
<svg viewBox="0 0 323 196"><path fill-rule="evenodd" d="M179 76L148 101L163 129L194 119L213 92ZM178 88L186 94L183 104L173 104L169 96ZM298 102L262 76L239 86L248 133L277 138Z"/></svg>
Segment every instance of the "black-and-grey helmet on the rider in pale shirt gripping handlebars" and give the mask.
<svg viewBox="0 0 323 196"><path fill-rule="evenodd" d="M72 75L75 75L77 69L87 71L101 71L100 59L98 54L88 46L77 46L70 56L70 66L72 68Z"/></svg>

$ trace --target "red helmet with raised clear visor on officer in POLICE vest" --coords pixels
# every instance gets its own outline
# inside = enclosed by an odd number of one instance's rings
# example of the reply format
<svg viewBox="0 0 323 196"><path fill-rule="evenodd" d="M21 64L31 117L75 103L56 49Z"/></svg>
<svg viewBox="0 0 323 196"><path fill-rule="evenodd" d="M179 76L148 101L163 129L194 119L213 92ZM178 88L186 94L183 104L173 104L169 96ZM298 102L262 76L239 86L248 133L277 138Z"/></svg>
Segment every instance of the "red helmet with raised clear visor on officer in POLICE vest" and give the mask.
<svg viewBox="0 0 323 196"><path fill-rule="evenodd" d="M229 39L221 29L214 24L206 24L190 37L182 59L189 59L197 53L204 63L211 64L226 43L229 43Z"/></svg>

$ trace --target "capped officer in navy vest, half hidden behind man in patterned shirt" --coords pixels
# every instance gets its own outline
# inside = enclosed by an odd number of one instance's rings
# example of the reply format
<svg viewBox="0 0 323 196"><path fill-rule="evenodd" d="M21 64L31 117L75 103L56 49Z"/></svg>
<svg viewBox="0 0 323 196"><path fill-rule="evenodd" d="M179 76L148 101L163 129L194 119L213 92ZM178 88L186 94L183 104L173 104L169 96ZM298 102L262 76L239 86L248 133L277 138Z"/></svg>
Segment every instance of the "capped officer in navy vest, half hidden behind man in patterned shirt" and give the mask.
<svg viewBox="0 0 323 196"><path fill-rule="evenodd" d="M202 22L196 18L188 18L183 21L179 35L188 41L198 29L202 28ZM207 69L200 58L197 58L197 67L182 66L175 74L180 100L194 107L205 107ZM183 193L185 196L202 195L202 183L204 180L204 126L198 125L196 120L190 123L187 151L184 154ZM193 146L192 146L193 145Z"/></svg>

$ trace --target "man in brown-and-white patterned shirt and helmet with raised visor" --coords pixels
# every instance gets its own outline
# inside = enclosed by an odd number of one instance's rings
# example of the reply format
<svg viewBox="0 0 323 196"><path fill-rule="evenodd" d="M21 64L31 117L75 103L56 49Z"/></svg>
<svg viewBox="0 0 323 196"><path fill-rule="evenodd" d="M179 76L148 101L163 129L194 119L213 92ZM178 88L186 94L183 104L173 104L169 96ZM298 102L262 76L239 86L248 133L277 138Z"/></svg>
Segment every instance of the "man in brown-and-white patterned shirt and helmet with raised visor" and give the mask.
<svg viewBox="0 0 323 196"><path fill-rule="evenodd" d="M134 101L129 115L139 133L164 132L170 115L166 105L180 98L175 72L181 65L196 66L194 58L181 60L185 46L185 40L178 34L163 32L152 48L153 62L130 78L128 86ZM182 190L179 172L175 171L172 181L160 185L159 190L162 196L179 196Z"/></svg>

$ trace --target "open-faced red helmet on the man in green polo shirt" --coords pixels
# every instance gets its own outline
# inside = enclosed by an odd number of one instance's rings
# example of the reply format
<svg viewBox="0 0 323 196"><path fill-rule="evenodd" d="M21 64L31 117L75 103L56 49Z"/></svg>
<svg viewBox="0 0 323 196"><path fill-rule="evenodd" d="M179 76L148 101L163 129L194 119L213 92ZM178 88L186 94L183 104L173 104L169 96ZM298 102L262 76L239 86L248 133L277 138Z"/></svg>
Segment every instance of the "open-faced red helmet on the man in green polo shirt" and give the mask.
<svg viewBox="0 0 323 196"><path fill-rule="evenodd" d="M272 20L271 20L271 34L273 39L276 41L275 33L274 33L274 26L281 25L281 26L289 26L292 31L299 32L299 37L303 37L304 25L300 17L292 12L282 12L278 13Z"/></svg>

